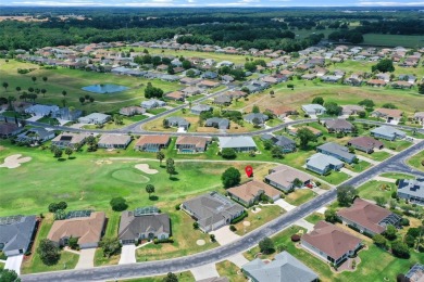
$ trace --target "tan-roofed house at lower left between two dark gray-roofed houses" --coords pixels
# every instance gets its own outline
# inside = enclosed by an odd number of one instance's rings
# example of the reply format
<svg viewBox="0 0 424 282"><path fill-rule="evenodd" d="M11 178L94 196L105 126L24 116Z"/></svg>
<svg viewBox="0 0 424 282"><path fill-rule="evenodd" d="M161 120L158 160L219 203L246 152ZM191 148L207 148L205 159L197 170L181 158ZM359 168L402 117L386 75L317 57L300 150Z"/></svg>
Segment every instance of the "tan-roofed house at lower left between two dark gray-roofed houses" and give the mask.
<svg viewBox="0 0 424 282"><path fill-rule="evenodd" d="M77 238L80 248L98 247L105 219L103 211L71 211L66 219L54 220L47 239L57 246L65 246L71 238Z"/></svg>

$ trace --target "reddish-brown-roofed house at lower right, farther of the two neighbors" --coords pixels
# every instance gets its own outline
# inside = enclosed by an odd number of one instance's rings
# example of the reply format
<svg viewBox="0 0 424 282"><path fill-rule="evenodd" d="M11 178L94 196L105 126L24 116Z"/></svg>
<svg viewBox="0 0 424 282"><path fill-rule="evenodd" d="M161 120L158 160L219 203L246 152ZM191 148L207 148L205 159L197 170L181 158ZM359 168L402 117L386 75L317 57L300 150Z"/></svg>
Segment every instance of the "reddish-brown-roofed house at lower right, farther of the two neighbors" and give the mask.
<svg viewBox="0 0 424 282"><path fill-rule="evenodd" d="M386 231L388 225L398 226L400 216L365 200L357 197L353 205L337 213L344 225L353 226L371 235Z"/></svg>

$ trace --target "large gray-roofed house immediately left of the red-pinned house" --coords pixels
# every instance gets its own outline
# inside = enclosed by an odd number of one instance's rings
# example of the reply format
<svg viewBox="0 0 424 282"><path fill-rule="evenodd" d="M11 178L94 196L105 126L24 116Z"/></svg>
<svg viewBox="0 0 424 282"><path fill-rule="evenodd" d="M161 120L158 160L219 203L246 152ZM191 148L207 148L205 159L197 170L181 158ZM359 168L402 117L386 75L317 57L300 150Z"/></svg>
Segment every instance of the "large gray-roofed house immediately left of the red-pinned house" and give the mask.
<svg viewBox="0 0 424 282"><path fill-rule="evenodd" d="M211 192L186 201L182 209L199 223L200 230L210 232L229 225L245 208L217 192Z"/></svg>

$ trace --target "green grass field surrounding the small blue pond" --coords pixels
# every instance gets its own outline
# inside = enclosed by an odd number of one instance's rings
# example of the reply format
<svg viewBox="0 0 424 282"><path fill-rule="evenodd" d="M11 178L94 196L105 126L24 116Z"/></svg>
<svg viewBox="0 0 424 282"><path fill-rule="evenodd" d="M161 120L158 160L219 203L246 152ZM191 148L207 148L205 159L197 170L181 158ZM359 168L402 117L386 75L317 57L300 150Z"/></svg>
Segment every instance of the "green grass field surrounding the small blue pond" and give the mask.
<svg viewBox="0 0 424 282"><path fill-rule="evenodd" d="M35 68L35 70L21 75L17 74L17 68ZM34 84L32 77L37 77ZM0 60L0 77L1 81L9 84L9 88L5 91L4 88L0 89L0 97L13 95L18 100L18 92L16 87L21 87L22 91L27 91L29 87L46 89L47 93L43 97L38 94L36 102L45 104L63 105L62 91L66 91L66 105L75 106L83 111L89 112L113 112L123 106L138 105L141 101L146 100L144 95L144 89L150 81L153 86L161 88L164 92L174 91L182 87L176 82L166 82L158 79L149 80L145 78L136 78L130 76L116 76L112 74L101 74L93 72L85 72L79 69L61 68L58 69L42 69L40 66L30 63L22 63L14 60L10 60L5 63L4 60ZM48 80L42 81L42 77L47 77ZM129 87L129 90L111 93L99 94L91 93L82 90L82 87L97 84L115 84ZM95 98L93 103L86 102L80 104L78 99L89 94Z"/></svg>

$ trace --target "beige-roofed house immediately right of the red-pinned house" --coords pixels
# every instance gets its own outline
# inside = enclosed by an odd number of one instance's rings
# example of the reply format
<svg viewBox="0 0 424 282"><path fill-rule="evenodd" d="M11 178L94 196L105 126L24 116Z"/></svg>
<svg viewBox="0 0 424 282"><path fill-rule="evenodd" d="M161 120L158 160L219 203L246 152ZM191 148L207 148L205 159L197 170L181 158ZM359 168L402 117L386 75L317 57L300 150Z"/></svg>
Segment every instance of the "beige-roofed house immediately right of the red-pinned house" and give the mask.
<svg viewBox="0 0 424 282"><path fill-rule="evenodd" d="M265 176L266 183L284 192L289 192L295 188L310 185L312 179L309 175L289 166L277 166L270 169L270 175Z"/></svg>

